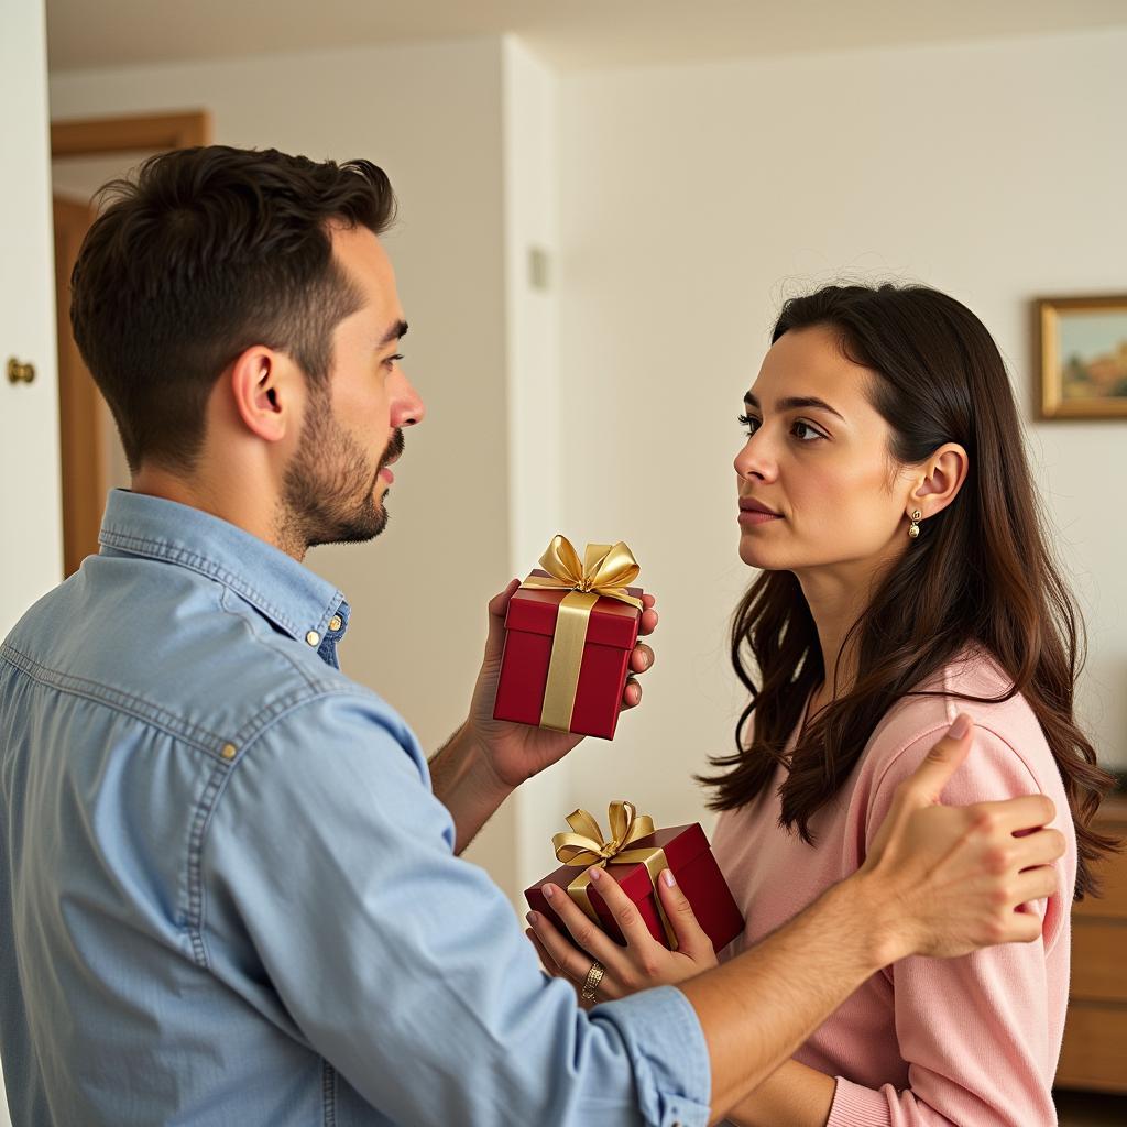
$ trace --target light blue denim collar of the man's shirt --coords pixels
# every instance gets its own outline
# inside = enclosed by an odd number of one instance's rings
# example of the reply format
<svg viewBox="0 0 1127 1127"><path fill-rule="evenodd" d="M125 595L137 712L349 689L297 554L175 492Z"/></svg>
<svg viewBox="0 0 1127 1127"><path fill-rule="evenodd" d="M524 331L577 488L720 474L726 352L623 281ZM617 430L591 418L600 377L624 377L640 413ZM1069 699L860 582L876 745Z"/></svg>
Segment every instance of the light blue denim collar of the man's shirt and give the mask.
<svg viewBox="0 0 1127 1127"><path fill-rule="evenodd" d="M163 560L206 575L314 648L326 633L339 636L347 627L348 604L331 583L265 540L189 505L114 489L98 540L105 554Z"/></svg>

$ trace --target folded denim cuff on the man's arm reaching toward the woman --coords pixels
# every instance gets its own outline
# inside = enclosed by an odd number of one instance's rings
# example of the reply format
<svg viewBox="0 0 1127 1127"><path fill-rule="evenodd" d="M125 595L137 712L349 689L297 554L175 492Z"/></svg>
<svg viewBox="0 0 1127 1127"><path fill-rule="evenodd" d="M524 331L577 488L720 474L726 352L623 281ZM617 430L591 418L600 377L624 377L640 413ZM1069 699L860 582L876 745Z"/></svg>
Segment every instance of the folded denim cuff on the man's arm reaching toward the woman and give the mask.
<svg viewBox="0 0 1127 1127"><path fill-rule="evenodd" d="M708 1127L712 1067L696 1011L675 986L640 991L591 1012L622 1038L648 1127Z"/></svg>

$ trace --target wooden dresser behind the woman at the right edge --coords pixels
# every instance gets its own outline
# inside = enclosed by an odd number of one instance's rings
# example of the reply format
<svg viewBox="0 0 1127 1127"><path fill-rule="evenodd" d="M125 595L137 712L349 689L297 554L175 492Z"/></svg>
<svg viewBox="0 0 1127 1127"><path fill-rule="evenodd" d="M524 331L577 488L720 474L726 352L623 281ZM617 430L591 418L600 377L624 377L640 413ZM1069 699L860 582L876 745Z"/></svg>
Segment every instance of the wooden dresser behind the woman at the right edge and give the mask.
<svg viewBox="0 0 1127 1127"><path fill-rule="evenodd" d="M1127 798L1104 800L1095 824L1127 838ZM1127 1092L1127 852L1099 868L1103 895L1073 907L1072 986L1057 1088Z"/></svg>

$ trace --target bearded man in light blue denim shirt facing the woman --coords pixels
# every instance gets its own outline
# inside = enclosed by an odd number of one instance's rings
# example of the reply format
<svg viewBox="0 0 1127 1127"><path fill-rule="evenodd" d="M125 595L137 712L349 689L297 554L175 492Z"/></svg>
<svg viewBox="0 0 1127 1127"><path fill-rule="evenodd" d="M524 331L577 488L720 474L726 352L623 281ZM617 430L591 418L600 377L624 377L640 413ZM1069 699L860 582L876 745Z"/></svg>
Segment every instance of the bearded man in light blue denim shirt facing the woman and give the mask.
<svg viewBox="0 0 1127 1127"><path fill-rule="evenodd" d="M190 150L148 162L79 256L76 339L133 489L0 648L17 1124L704 1124L879 967L1037 933L1014 909L1055 887L1063 842L1014 832L1051 804L933 805L955 733L866 868L757 950L589 1013L541 974L458 859L576 743L491 719L513 585L428 769L339 672L348 604L301 564L382 530L424 416L391 213L366 162Z"/></svg>

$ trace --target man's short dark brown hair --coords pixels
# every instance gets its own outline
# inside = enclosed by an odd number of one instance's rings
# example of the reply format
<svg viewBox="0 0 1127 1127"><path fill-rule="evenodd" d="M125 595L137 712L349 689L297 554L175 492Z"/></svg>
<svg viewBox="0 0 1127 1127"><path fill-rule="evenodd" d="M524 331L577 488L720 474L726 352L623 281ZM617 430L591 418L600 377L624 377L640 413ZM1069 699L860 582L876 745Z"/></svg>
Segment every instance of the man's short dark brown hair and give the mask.
<svg viewBox="0 0 1127 1127"><path fill-rule="evenodd" d="M215 380L254 345L328 376L332 329L361 300L330 227L380 234L396 208L366 160L225 145L152 157L99 196L107 206L71 275L71 325L134 471L147 460L192 468Z"/></svg>

